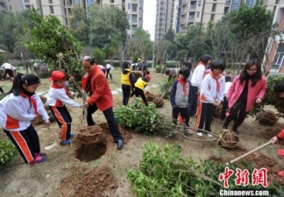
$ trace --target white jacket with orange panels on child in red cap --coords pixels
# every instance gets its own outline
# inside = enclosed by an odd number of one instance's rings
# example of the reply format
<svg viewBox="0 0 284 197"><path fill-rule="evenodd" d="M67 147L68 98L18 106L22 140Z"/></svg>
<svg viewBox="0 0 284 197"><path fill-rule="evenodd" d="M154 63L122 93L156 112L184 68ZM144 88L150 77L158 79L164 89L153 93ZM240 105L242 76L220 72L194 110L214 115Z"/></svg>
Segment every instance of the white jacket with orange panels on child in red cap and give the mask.
<svg viewBox="0 0 284 197"><path fill-rule="evenodd" d="M65 105L80 108L81 105L73 101L67 94L65 87L56 86L56 84L51 84L48 91L48 98L46 103L48 106L62 107Z"/></svg>

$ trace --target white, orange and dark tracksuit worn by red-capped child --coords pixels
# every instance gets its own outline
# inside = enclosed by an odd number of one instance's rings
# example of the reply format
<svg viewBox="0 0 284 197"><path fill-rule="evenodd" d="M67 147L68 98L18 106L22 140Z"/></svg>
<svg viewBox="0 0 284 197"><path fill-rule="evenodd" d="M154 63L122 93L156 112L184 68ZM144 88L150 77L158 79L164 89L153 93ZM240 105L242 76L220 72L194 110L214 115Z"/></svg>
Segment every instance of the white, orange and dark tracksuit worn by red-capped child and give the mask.
<svg viewBox="0 0 284 197"><path fill-rule="evenodd" d="M67 82L66 82L67 84ZM60 87L53 83L48 91L48 99L46 103L50 108L51 113L61 128L60 140L69 140L72 118L69 111L67 110L65 104L71 107L80 108L80 103L72 101L70 94L67 89L63 86Z"/></svg>

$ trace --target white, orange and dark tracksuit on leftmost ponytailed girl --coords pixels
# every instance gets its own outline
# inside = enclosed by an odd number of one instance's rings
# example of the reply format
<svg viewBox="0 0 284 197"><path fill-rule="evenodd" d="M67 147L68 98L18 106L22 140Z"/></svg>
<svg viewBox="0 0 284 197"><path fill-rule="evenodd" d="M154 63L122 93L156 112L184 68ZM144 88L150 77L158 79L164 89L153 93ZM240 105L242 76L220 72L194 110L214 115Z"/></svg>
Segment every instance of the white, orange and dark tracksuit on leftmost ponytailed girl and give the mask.
<svg viewBox="0 0 284 197"><path fill-rule="evenodd" d="M35 114L43 117L45 123L49 120L48 113L43 108L43 102L37 94L28 96L21 93L7 95L0 101L0 125L23 160L28 164L33 162L35 154L40 153L38 133L31 125Z"/></svg>

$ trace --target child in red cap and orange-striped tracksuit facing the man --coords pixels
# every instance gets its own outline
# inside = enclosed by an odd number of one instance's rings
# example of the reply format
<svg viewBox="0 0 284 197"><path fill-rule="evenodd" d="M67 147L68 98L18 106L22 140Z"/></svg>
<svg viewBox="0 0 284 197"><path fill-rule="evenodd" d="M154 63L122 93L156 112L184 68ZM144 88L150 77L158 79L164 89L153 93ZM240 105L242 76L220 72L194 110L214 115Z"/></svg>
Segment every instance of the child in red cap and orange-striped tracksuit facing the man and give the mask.
<svg viewBox="0 0 284 197"><path fill-rule="evenodd" d="M46 102L48 103L50 111L61 129L60 143L62 145L67 145L71 142L70 137L73 137L74 134L70 133L72 118L65 105L67 104L68 106L75 108L80 108L81 105L70 99L71 96L65 88L68 83L65 81L66 77L63 72L53 71L50 79L48 80L53 81L53 83L48 91L48 99Z"/></svg>

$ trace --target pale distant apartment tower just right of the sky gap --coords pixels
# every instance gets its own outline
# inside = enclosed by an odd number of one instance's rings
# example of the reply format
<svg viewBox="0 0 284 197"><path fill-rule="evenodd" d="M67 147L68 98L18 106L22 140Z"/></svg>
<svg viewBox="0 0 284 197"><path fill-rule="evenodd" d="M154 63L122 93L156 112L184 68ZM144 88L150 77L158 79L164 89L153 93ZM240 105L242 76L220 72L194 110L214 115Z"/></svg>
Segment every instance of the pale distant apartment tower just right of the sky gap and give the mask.
<svg viewBox="0 0 284 197"><path fill-rule="evenodd" d="M157 0L155 16L155 40L163 38L163 34L173 29L175 0Z"/></svg>

